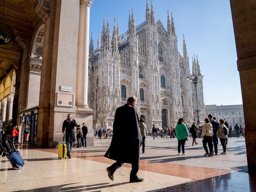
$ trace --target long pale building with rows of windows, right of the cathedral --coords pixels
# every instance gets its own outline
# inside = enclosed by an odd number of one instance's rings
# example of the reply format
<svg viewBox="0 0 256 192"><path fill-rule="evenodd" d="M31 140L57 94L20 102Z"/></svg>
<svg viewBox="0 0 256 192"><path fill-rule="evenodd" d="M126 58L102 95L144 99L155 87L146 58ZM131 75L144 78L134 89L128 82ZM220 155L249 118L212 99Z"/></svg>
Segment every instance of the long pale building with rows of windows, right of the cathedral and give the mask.
<svg viewBox="0 0 256 192"><path fill-rule="evenodd" d="M229 125L244 125L244 108L243 105L205 105L205 114L212 114L219 121L225 117Z"/></svg>

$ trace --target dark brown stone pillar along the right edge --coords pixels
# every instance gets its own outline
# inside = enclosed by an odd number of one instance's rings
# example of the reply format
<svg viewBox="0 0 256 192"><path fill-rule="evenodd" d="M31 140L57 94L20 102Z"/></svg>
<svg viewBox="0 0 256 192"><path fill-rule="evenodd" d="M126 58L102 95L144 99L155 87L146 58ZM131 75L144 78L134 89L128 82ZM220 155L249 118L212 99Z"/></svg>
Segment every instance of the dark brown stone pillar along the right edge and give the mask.
<svg viewBox="0 0 256 192"><path fill-rule="evenodd" d="M248 172L256 171L256 1L230 0L245 120ZM252 190L255 191L255 190Z"/></svg>

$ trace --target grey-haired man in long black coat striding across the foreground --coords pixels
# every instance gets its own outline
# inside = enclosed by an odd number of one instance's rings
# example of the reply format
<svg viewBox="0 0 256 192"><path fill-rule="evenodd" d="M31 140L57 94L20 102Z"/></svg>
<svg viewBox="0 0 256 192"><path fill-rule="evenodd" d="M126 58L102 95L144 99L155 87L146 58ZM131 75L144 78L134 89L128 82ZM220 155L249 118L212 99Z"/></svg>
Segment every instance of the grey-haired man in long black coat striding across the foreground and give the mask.
<svg viewBox="0 0 256 192"><path fill-rule="evenodd" d="M116 160L114 164L107 168L108 177L113 181L114 172L124 163L132 164L130 173L130 183L141 182L144 179L137 176L140 164L140 143L142 137L140 134L139 117L135 107L137 97L131 96L127 104L116 109L113 123L113 132L110 147L105 157ZM127 135L127 130L129 134Z"/></svg>

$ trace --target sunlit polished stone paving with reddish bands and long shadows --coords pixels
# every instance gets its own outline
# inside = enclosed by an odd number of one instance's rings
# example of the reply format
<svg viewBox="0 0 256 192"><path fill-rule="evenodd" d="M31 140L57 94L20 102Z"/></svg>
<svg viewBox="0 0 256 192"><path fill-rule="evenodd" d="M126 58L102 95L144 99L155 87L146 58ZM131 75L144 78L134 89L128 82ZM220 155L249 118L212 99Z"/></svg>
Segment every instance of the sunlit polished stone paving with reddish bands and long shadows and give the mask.
<svg viewBox="0 0 256 192"><path fill-rule="evenodd" d="M177 155L177 140L146 137L140 154L141 183L129 183L130 164L124 164L108 178L106 167L114 161L103 154L111 138L95 146L73 148L72 159L58 160L57 149L19 147L25 166L13 169L0 157L1 191L256 191L256 177L248 174L244 137L229 138L227 154L204 157L202 140L185 145L187 156ZM222 146L218 146L222 152Z"/></svg>

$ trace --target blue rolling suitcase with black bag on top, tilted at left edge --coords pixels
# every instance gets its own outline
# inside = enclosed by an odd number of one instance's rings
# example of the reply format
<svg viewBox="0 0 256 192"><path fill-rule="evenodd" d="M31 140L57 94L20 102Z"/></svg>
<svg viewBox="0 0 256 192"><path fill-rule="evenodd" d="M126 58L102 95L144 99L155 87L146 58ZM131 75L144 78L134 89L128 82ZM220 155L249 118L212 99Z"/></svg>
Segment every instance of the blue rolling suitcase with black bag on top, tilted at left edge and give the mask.
<svg viewBox="0 0 256 192"><path fill-rule="evenodd" d="M16 151L15 146L12 141L1 139L0 140L0 155L3 153L2 157L6 156L7 159L12 164L13 168L21 169L24 166L24 161L20 155L19 151Z"/></svg>

